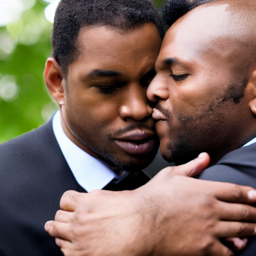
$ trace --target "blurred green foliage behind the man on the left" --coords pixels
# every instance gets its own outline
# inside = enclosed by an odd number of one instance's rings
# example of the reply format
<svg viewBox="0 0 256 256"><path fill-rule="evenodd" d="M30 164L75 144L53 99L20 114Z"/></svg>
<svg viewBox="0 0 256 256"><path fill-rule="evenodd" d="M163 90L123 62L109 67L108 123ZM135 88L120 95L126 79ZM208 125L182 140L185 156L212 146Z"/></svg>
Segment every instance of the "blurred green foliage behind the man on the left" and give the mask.
<svg viewBox="0 0 256 256"><path fill-rule="evenodd" d="M164 0L153 0L161 8ZM51 54L47 3L36 0L18 21L0 27L0 143L44 123L57 109L43 80Z"/></svg>

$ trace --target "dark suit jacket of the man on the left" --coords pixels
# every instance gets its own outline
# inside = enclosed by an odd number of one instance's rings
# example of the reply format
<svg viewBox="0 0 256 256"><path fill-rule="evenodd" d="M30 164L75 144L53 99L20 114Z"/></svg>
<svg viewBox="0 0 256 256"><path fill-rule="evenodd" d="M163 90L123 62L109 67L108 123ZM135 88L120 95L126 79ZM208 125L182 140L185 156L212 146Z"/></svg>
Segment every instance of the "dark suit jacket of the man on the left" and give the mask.
<svg viewBox="0 0 256 256"><path fill-rule="evenodd" d="M141 176L143 183L149 180ZM61 195L70 189L81 191L51 120L0 144L0 255L62 255L43 226L54 219Z"/></svg>

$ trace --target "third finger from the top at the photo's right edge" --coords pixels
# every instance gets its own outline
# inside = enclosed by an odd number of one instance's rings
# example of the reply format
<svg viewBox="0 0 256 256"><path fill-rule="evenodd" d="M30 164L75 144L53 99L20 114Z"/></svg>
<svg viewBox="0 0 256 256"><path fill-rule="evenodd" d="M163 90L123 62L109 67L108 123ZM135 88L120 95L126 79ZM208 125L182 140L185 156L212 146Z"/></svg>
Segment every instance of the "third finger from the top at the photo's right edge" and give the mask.
<svg viewBox="0 0 256 256"><path fill-rule="evenodd" d="M214 228L216 236L219 238L256 235L255 223L219 221Z"/></svg>

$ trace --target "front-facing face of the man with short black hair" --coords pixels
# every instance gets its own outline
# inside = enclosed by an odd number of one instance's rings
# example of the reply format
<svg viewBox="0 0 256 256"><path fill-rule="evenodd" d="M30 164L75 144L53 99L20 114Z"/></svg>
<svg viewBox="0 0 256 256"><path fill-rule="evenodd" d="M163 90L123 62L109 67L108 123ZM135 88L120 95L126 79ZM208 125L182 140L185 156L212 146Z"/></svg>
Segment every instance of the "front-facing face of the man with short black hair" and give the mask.
<svg viewBox="0 0 256 256"><path fill-rule="evenodd" d="M110 165L144 168L158 147L146 98L161 43L156 26L126 33L82 27L77 41L79 56L63 80L62 125L73 142Z"/></svg>

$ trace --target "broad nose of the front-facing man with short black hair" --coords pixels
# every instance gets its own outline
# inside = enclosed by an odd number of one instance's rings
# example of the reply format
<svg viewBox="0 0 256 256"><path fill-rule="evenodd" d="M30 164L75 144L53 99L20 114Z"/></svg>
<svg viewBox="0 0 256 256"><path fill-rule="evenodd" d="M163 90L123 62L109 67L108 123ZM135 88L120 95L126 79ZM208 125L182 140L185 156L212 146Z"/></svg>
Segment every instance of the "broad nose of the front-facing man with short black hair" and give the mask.
<svg viewBox="0 0 256 256"><path fill-rule="evenodd" d="M120 116L132 118L134 120L143 120L152 114L152 107L146 98L146 87L141 85L131 86L125 93L122 104L119 109Z"/></svg>

